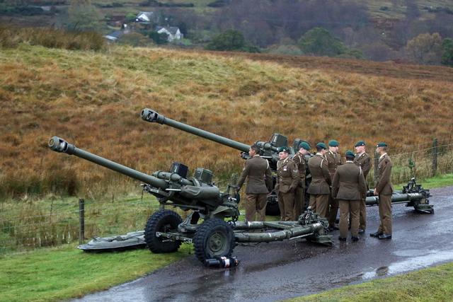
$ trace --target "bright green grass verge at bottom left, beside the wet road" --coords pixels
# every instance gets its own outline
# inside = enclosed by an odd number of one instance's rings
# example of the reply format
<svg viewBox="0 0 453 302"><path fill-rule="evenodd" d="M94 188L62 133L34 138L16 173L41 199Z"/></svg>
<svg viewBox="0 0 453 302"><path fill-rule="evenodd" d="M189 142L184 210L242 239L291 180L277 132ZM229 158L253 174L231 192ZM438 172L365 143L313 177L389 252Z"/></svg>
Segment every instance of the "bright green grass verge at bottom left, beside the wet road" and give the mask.
<svg viewBox="0 0 453 302"><path fill-rule="evenodd" d="M74 245L42 248L0 257L0 301L58 301L137 279L190 255L191 245L178 252L149 250L86 253Z"/></svg>

